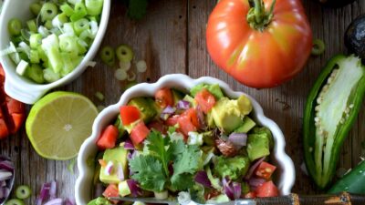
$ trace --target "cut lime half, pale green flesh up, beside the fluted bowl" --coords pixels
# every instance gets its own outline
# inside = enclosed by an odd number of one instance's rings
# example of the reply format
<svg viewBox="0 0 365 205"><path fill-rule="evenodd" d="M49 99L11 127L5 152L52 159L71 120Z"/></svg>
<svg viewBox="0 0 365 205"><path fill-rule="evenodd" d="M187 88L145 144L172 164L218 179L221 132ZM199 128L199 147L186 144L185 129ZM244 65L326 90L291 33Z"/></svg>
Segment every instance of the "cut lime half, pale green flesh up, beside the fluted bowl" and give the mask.
<svg viewBox="0 0 365 205"><path fill-rule="evenodd" d="M43 158L72 159L90 136L97 115L98 109L88 97L72 92L53 92L30 109L26 134Z"/></svg>

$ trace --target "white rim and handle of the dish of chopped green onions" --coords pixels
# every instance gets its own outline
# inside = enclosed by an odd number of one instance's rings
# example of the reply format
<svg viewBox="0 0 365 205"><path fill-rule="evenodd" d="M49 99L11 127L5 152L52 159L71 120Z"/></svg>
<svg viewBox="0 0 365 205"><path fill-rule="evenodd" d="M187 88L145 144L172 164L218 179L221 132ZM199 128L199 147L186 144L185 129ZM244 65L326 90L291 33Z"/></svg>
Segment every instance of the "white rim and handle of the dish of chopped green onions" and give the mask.
<svg viewBox="0 0 365 205"><path fill-rule="evenodd" d="M3 12L1 12L0 15L0 23L6 24L5 19L8 17L5 17L7 13L5 12L6 9L8 9L11 6L11 2L16 2L18 0L5 0L3 5ZM33 1L33 0L32 0ZM29 10L29 9L28 9ZM29 11L30 13L30 11ZM15 15L12 15L15 16ZM26 96L37 96L36 99L39 97L42 97L45 93L47 93L48 90L60 87L62 85L65 85L72 80L74 80L76 77L82 74L83 71L87 67L89 67L88 63L92 61L96 53L98 52L99 46L101 45L101 42L103 40L103 37L105 36L105 33L107 31L108 23L109 23L109 17L110 17L110 0L103 0L103 8L100 15L100 21L99 21L99 28L97 35L94 38L93 43L89 47L88 52L83 57L81 62L78 64L78 67L75 67L75 69L68 73L65 77L61 77L55 82L48 83L48 84L36 84L34 82L31 82L30 80L27 80L25 77L20 77L16 74L16 67L14 63L8 63L11 60L9 60L9 56L0 56L0 63L3 65L4 71L5 71L5 91L6 94L8 94L10 97L16 98L19 101L22 101L26 104L34 104L35 99L29 100L26 98ZM7 27L7 26L5 26ZM3 30L4 26L0 26L0 39L4 38L4 33L7 32L7 29L5 31ZM7 41L7 40L6 40ZM8 46L10 42L0 43L0 49L5 49L3 46ZM19 90L20 89L20 90ZM23 92L21 92L23 91ZM25 92L26 91L26 92ZM19 94L21 92L22 94ZM34 92L33 95L31 93ZM34 98L34 97L33 97Z"/></svg>

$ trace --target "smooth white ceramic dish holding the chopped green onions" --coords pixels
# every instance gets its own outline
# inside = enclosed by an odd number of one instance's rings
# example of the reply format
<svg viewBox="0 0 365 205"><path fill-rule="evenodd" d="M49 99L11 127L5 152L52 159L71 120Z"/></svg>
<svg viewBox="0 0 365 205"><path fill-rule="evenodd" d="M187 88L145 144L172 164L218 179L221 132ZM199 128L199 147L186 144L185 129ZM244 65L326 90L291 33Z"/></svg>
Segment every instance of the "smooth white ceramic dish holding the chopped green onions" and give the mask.
<svg viewBox="0 0 365 205"><path fill-rule="evenodd" d="M0 15L0 50L3 50L10 45L10 37L7 31L7 23L9 20L16 17L23 20L23 22L26 22L26 20L30 19L31 14L29 5L34 1L35 0L5 0ZM93 59L99 49L103 36L107 30L109 15L110 0L104 0L99 30L88 53L78 67L67 76L62 77L53 83L40 85L26 79L26 77L21 77L16 74L16 65L11 61L9 56L0 57L0 62L5 70L6 94L26 104L34 104L36 100L46 94L48 90L68 84L81 75L86 69L88 62Z"/></svg>

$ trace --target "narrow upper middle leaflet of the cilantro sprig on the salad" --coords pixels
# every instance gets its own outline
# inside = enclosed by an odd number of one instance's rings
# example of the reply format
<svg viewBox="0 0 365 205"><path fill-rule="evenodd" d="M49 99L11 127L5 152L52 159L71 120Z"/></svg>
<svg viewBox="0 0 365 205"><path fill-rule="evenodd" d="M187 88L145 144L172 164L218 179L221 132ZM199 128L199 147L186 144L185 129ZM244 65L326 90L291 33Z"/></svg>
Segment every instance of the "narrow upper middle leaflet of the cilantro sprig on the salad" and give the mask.
<svg viewBox="0 0 365 205"><path fill-rule="evenodd" d="M159 131L152 129L149 137L147 138L149 144L147 145L151 155L160 159L162 162L163 169L166 175L169 175L168 165L172 159L171 151L166 147L170 145L170 138L163 138Z"/></svg>

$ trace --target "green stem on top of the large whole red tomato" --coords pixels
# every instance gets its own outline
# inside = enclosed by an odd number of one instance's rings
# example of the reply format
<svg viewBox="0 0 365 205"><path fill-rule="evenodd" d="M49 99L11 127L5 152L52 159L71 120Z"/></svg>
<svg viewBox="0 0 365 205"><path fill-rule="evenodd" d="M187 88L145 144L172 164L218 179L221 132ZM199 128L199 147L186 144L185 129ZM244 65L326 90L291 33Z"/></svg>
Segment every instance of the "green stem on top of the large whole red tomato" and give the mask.
<svg viewBox="0 0 365 205"><path fill-rule="evenodd" d="M269 11L266 11L263 0L248 0L248 1L250 3L251 8L246 16L247 22L252 28L262 32L273 19L276 0L273 0L273 3L271 4Z"/></svg>

